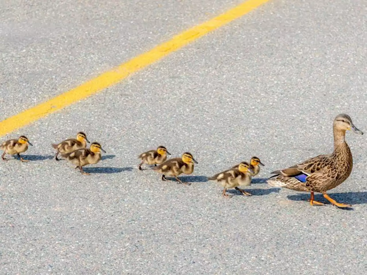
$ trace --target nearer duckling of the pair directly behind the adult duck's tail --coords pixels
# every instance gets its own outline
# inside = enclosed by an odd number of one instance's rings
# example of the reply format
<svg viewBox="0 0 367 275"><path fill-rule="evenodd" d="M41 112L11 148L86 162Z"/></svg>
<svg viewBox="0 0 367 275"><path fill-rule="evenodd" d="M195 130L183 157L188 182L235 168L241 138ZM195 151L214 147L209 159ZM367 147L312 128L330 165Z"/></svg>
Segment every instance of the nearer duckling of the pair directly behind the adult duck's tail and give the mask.
<svg viewBox="0 0 367 275"><path fill-rule="evenodd" d="M222 196L224 197L229 197L229 195L226 194L227 188L235 188L243 195L251 196L250 193L238 188L238 186L251 185L251 173L254 173L254 170L250 168L250 164L244 161L237 165L237 168L231 168L220 172L217 175L208 177L208 180L218 181L218 183L220 183L224 187L222 193Z"/></svg>

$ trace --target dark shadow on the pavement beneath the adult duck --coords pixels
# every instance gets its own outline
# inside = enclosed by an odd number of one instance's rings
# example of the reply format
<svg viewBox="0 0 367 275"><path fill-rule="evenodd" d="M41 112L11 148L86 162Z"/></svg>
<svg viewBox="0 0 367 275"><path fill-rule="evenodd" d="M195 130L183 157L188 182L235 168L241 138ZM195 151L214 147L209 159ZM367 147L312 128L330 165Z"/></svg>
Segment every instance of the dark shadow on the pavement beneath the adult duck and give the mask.
<svg viewBox="0 0 367 275"><path fill-rule="evenodd" d="M367 192L330 193L328 195L331 198L335 199L335 201L340 203L348 203L351 205L367 203ZM292 201L307 201L310 198L310 195L309 194L288 195L287 198ZM315 201L330 203L321 194L315 194Z"/></svg>

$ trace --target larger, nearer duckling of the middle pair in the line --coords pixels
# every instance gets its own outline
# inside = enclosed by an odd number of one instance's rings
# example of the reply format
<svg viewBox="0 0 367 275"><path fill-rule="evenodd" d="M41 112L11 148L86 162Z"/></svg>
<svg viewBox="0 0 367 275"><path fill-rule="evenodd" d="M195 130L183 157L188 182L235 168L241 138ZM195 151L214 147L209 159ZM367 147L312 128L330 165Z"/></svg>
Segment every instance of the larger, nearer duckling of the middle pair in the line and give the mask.
<svg viewBox="0 0 367 275"><path fill-rule="evenodd" d="M197 161L194 159L192 154L186 152L182 154L181 158L172 158L163 162L159 166L153 168L154 171L162 174L162 180L166 181L166 176L175 177L179 183L183 183L178 176L182 173L186 175L192 174L194 172L194 163ZM190 185L191 183L185 183Z"/></svg>

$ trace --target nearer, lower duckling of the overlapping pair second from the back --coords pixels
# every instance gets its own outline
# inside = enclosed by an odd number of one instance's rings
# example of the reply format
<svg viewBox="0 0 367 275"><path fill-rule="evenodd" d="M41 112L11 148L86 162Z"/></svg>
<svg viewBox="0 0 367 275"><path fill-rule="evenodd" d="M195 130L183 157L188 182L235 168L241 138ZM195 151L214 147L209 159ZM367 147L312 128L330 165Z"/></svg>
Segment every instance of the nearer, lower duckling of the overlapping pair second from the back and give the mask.
<svg viewBox="0 0 367 275"><path fill-rule="evenodd" d="M98 161L100 161L102 159L101 150L106 153L106 151L102 149L101 144L98 142L93 142L90 146L90 149L77 149L71 153L61 155L72 164L77 165L75 169L79 168L83 175L90 175L90 173L83 172L82 167L88 164L96 164Z"/></svg>

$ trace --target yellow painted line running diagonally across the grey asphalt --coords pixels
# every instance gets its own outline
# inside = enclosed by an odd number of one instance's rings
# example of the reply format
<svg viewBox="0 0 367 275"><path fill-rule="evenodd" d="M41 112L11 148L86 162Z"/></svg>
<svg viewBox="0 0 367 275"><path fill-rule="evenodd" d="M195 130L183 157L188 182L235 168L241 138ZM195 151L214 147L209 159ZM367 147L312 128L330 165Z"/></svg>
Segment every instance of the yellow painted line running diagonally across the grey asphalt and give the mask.
<svg viewBox="0 0 367 275"><path fill-rule="evenodd" d="M268 1L269 0L248 0L224 14L174 36L170 41L160 44L150 51L132 58L115 69L102 73L70 91L64 92L61 95L47 100L46 102L40 103L30 109L1 121L0 136L6 135L7 133L39 120L42 117L46 117L57 110L76 103L81 99L96 94L111 85L119 83L130 74L143 69L171 52L177 51L197 38L200 38L205 34L247 14Z"/></svg>

